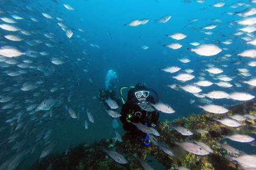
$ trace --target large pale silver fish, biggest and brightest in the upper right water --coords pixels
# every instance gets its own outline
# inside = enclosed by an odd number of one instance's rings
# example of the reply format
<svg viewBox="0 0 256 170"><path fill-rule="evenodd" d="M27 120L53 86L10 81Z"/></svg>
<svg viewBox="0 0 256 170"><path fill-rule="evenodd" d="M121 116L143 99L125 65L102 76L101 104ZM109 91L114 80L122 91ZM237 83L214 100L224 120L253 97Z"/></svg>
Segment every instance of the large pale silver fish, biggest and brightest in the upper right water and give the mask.
<svg viewBox="0 0 256 170"><path fill-rule="evenodd" d="M201 56L213 56L217 55L222 51L218 46L215 44L202 44L200 46L197 46L195 49L187 48L189 51L193 51Z"/></svg>

